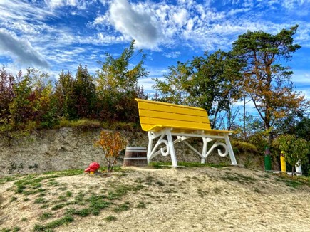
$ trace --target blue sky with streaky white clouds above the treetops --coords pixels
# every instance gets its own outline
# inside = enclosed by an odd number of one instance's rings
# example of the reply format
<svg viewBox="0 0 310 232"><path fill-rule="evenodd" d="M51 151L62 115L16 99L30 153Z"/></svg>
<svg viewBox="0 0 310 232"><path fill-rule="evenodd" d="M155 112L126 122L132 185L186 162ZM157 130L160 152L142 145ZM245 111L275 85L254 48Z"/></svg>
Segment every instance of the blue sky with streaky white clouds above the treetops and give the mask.
<svg viewBox="0 0 310 232"><path fill-rule="evenodd" d="M75 73L79 63L94 72L105 53L118 56L135 39L150 78L162 77L178 60L229 50L247 31L295 24L302 48L289 65L296 88L310 97L310 0L0 0L0 64L54 77ZM150 78L140 81L146 90Z"/></svg>

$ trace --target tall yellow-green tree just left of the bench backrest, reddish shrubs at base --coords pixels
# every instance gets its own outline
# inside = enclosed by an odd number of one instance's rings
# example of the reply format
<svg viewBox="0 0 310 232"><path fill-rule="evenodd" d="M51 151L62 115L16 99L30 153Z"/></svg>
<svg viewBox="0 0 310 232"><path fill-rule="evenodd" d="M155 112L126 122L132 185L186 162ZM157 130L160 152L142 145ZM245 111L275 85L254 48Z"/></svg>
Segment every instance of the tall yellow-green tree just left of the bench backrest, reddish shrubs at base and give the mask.
<svg viewBox="0 0 310 232"><path fill-rule="evenodd" d="M133 65L135 60L138 63ZM148 76L143 67L145 55L142 50L135 52L135 41L123 50L118 58L105 53L105 61L99 61L96 71L98 95L98 117L108 122L138 120L138 105L135 97L143 98L143 88L138 88L138 80ZM133 67L133 68L131 68Z"/></svg>

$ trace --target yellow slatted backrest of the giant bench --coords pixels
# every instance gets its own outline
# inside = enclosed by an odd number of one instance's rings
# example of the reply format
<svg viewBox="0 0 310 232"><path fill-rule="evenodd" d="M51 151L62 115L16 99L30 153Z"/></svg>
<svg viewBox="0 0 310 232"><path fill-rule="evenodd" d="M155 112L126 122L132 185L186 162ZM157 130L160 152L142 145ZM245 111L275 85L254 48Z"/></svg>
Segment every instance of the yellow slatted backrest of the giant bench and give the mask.
<svg viewBox="0 0 310 232"><path fill-rule="evenodd" d="M135 99L138 102L140 124L145 131L160 127L190 130L210 130L207 111L198 107Z"/></svg>

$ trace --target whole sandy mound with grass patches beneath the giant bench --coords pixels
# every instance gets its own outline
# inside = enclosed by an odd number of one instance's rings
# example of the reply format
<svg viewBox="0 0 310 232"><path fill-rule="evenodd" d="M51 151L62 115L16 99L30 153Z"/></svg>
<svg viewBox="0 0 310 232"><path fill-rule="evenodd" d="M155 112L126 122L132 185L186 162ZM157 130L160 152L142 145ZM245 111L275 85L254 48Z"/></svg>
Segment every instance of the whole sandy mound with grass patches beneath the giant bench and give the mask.
<svg viewBox="0 0 310 232"><path fill-rule="evenodd" d="M310 186L240 167L21 176L2 231L309 231ZM76 174L76 173L73 173ZM15 183L15 184L14 184Z"/></svg>

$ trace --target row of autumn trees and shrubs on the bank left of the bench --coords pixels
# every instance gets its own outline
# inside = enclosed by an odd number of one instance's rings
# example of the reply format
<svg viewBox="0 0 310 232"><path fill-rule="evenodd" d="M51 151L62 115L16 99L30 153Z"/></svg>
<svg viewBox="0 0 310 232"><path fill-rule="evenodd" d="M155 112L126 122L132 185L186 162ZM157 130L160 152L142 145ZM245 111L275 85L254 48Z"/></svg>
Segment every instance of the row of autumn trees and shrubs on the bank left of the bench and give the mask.
<svg viewBox="0 0 310 232"><path fill-rule="evenodd" d="M105 122L138 122L135 97L147 98L138 78L148 75L143 68L144 56L128 69L134 54L134 41L120 58L106 54L105 62L95 75L78 65L76 74L61 71L56 83L48 74L28 68L14 75L0 70L1 131L26 127L53 128L61 120L91 119Z"/></svg>

